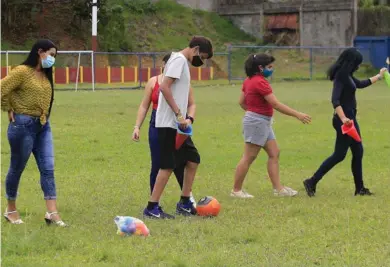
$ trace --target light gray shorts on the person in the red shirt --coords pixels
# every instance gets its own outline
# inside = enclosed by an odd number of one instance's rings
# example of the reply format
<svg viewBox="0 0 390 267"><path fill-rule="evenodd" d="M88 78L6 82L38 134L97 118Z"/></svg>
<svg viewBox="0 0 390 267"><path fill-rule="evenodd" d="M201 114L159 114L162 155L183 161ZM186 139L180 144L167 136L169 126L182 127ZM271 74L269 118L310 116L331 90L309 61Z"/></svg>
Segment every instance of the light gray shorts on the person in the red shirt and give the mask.
<svg viewBox="0 0 390 267"><path fill-rule="evenodd" d="M272 129L272 117L247 111L242 124L244 126L245 143L264 147L267 141L276 139Z"/></svg>

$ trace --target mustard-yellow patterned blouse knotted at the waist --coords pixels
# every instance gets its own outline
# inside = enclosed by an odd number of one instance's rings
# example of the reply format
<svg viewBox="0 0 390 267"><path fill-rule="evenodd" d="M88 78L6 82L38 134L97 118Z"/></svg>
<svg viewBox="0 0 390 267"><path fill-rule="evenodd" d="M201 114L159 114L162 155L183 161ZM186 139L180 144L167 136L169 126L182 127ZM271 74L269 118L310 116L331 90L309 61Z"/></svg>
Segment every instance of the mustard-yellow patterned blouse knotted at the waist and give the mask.
<svg viewBox="0 0 390 267"><path fill-rule="evenodd" d="M37 75L34 68L20 65L1 79L1 109L40 117L44 125L52 103L50 81Z"/></svg>

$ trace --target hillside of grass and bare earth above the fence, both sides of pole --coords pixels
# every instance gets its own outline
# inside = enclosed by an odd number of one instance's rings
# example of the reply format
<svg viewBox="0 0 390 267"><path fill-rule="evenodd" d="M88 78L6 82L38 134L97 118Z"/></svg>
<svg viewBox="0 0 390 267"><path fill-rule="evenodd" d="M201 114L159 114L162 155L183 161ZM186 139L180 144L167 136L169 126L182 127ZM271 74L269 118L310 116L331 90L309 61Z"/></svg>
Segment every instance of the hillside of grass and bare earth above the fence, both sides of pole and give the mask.
<svg viewBox="0 0 390 267"><path fill-rule="evenodd" d="M45 6L32 6L37 11L23 18L25 5L15 4L20 19L14 19L8 26L2 21L1 49L29 49L40 37L54 40L63 50L90 49L90 8L80 2L85 3L81 0L62 5L54 3L48 10ZM209 37L215 50L221 52L226 51L227 43L258 43L216 13L192 10L174 1L102 0L101 3L100 51L168 51L186 46L193 35ZM30 25L31 21L37 21L35 27ZM27 25L31 26L28 34Z"/></svg>

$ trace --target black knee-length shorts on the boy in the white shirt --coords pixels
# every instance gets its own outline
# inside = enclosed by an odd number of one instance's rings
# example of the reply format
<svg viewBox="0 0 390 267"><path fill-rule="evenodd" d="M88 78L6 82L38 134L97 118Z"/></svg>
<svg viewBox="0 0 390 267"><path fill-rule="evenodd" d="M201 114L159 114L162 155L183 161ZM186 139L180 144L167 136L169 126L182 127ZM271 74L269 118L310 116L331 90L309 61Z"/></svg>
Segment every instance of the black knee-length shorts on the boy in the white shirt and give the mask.
<svg viewBox="0 0 390 267"><path fill-rule="evenodd" d="M160 144L160 169L175 169L176 166L187 161L200 163L200 155L191 137L183 143L179 150L176 150L176 129L157 128Z"/></svg>

